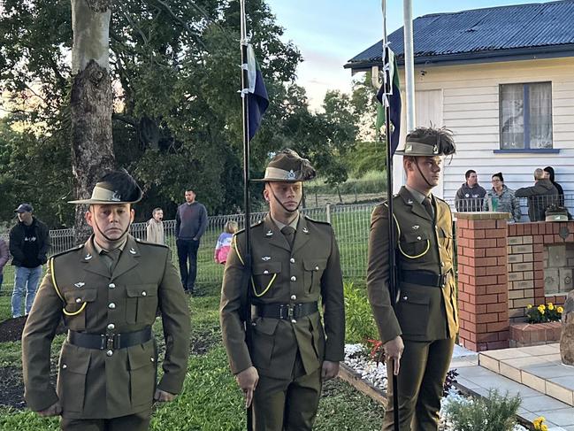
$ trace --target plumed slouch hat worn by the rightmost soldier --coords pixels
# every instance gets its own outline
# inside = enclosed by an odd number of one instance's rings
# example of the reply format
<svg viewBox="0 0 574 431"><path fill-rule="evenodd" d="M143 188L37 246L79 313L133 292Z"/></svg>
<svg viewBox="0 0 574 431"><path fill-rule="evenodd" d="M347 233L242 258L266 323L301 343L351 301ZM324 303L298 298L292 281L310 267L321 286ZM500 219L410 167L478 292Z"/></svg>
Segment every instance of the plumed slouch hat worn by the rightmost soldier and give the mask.
<svg viewBox="0 0 574 431"><path fill-rule="evenodd" d="M455 154L455 140L448 128L417 127L407 135L404 148L394 154L402 156L450 156Z"/></svg>

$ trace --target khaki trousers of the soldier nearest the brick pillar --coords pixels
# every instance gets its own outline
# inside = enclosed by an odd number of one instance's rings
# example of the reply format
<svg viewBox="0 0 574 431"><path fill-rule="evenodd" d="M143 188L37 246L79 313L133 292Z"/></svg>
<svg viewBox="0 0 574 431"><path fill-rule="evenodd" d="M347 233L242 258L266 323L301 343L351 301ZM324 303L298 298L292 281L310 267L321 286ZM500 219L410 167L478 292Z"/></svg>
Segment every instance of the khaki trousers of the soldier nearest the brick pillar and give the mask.
<svg viewBox="0 0 574 431"><path fill-rule="evenodd" d="M455 339L433 342L404 340L398 377L399 429L437 431L440 398L452 358ZM394 430L392 369L387 366L387 400L383 431Z"/></svg>

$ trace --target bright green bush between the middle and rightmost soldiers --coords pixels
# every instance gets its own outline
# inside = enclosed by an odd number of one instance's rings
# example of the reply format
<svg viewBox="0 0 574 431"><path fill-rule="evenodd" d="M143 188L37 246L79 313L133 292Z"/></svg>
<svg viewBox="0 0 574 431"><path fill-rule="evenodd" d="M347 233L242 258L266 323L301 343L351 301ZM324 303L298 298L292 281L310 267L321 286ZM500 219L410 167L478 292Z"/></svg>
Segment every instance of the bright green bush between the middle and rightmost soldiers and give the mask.
<svg viewBox="0 0 574 431"><path fill-rule="evenodd" d="M345 282L345 322L346 342L367 342L378 340L379 331L372 317L371 304L364 288L356 287L353 282Z"/></svg>

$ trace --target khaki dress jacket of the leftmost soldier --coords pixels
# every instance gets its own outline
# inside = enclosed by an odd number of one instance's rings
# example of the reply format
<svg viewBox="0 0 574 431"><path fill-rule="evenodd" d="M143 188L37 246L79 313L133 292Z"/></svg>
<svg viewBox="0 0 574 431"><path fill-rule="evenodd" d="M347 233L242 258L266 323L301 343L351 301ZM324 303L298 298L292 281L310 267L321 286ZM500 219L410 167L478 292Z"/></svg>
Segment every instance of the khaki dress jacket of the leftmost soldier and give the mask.
<svg viewBox="0 0 574 431"><path fill-rule="evenodd" d="M188 366L190 319L180 276L169 249L129 235L113 273L85 244L50 258L22 335L25 398L34 411L59 399L63 415L110 419L151 408L156 389L155 341L123 349L77 347L65 340L50 383L50 345L60 320L91 334L122 334L151 326L161 311L164 376L157 385L181 391Z"/></svg>

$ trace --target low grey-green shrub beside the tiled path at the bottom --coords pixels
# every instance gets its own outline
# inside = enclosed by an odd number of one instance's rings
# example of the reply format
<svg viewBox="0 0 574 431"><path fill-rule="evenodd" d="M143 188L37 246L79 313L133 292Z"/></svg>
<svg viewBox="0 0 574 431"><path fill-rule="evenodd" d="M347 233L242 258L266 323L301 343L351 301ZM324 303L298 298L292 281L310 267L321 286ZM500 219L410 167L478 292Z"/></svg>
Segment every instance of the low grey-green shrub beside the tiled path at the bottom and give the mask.
<svg viewBox="0 0 574 431"><path fill-rule="evenodd" d="M520 396L501 396L494 389L486 397L454 400L446 412L456 431L512 431L520 402Z"/></svg>

